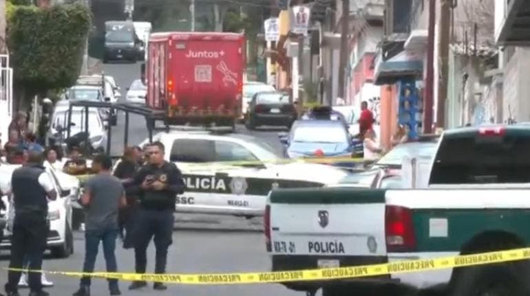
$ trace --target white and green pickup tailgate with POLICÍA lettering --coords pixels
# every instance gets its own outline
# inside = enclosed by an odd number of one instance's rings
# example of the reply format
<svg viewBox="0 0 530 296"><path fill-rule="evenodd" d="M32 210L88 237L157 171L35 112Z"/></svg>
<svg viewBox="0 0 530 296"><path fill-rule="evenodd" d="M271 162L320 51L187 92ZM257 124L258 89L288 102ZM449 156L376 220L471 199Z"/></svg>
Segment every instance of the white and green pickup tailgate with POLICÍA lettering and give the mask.
<svg viewBox="0 0 530 296"><path fill-rule="evenodd" d="M273 255L386 255L385 190L344 187L275 190Z"/></svg>

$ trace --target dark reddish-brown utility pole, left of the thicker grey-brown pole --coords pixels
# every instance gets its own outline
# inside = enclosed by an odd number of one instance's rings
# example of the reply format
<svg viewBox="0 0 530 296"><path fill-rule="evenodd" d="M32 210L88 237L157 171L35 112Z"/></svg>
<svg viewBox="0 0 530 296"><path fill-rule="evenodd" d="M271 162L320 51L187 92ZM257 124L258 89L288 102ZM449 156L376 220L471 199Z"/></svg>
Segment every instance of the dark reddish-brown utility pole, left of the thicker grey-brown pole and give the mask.
<svg viewBox="0 0 530 296"><path fill-rule="evenodd" d="M434 104L434 27L436 25L436 0L429 0L429 27L427 35L427 75L425 77L425 120L423 133L432 133Z"/></svg>

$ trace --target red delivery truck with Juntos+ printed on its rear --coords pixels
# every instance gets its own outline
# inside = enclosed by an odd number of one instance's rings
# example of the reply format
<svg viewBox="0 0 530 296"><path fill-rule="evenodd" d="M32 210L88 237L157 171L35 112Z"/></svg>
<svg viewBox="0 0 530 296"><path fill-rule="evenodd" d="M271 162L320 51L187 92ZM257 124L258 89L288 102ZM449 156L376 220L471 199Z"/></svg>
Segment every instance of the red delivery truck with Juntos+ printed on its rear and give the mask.
<svg viewBox="0 0 530 296"><path fill-rule="evenodd" d="M243 34L151 34L147 107L167 125L235 126L242 112L245 53Z"/></svg>

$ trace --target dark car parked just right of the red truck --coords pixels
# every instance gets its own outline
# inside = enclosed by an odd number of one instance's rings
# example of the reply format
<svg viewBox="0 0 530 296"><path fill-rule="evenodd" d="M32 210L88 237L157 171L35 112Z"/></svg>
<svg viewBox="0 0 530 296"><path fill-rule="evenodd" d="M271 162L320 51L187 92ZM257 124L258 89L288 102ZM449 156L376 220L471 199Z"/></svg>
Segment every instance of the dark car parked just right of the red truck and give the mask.
<svg viewBox="0 0 530 296"><path fill-rule="evenodd" d="M290 128L297 119L295 104L289 95L277 91L256 93L248 104L245 126L253 130L258 126L285 126Z"/></svg>

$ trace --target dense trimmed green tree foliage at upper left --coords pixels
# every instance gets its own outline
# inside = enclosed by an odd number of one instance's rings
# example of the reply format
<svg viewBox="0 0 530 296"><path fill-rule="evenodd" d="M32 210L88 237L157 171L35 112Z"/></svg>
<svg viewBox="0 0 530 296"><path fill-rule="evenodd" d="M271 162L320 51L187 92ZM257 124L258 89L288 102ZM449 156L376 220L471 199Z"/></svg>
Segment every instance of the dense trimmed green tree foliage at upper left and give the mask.
<svg viewBox="0 0 530 296"><path fill-rule="evenodd" d="M34 93L72 86L81 70L91 18L78 4L45 10L14 6L8 16L14 79Z"/></svg>

